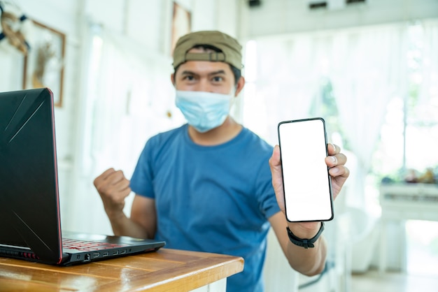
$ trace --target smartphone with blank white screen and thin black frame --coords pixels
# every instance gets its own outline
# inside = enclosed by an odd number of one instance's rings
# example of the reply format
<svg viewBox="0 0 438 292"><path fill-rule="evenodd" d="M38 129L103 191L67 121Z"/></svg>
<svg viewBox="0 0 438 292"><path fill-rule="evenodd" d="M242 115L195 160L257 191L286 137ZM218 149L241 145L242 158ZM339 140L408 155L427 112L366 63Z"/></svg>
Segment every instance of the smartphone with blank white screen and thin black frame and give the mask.
<svg viewBox="0 0 438 292"><path fill-rule="evenodd" d="M278 123L286 219L330 221L332 183L325 164L327 133L321 117Z"/></svg>

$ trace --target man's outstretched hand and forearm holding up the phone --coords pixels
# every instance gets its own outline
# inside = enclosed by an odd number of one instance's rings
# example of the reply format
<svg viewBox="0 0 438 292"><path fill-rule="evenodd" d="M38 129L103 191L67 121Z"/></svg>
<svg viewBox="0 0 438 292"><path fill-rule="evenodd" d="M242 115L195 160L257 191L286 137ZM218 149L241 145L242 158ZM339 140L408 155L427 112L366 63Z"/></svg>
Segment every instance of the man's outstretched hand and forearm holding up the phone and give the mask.
<svg viewBox="0 0 438 292"><path fill-rule="evenodd" d="M345 167L346 156L340 153L336 145L328 145L329 156L325 158L325 163L330 167L329 173L332 177L332 193L336 198L341 191L348 175L349 170ZM299 155L299 154L297 154ZM283 179L281 173L280 149L278 145L274 147L271 159L272 186L276 194L276 199L281 212L274 214L269 218L269 223L280 242L283 252L288 258L290 266L304 275L318 275L323 271L325 258L327 256L327 245L323 236L320 236L314 243L315 247L304 249L290 242L286 227L289 227L292 233L298 238L309 239L318 233L321 226L320 222L288 222L285 219L285 203L283 196ZM299 167L299 166L297 166Z"/></svg>

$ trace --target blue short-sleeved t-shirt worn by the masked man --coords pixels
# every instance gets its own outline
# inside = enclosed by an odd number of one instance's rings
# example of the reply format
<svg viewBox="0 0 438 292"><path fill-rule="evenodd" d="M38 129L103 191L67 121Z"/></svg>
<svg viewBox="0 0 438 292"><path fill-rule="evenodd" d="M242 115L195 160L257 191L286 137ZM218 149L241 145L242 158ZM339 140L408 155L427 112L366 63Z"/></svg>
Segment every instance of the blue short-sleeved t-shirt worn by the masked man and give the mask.
<svg viewBox="0 0 438 292"><path fill-rule="evenodd" d="M263 290L267 219L280 211L271 153L271 145L246 128L227 143L197 145L185 124L150 138L132 175L132 191L155 199L155 238L166 247L245 259L227 291Z"/></svg>

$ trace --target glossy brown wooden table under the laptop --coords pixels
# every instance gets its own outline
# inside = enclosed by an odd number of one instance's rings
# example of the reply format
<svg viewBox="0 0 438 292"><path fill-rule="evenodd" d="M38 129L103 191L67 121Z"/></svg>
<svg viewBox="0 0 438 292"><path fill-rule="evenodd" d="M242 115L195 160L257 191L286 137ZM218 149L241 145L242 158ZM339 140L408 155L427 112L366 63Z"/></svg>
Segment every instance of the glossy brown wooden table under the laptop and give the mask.
<svg viewBox="0 0 438 292"><path fill-rule="evenodd" d="M240 257L164 248L70 267L0 257L0 291L225 291L242 270Z"/></svg>

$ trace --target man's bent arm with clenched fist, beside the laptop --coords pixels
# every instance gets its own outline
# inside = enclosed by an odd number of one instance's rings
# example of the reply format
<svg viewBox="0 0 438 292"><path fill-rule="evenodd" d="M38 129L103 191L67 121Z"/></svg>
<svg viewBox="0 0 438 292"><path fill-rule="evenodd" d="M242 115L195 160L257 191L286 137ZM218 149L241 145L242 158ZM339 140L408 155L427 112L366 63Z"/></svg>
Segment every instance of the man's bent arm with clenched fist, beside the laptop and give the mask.
<svg viewBox="0 0 438 292"><path fill-rule="evenodd" d="M136 195L132 203L131 218L123 212L125 198L131 193L129 180L121 170L110 168L94 180L105 212L115 235L133 238L153 238L156 230L155 200Z"/></svg>

